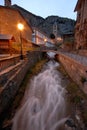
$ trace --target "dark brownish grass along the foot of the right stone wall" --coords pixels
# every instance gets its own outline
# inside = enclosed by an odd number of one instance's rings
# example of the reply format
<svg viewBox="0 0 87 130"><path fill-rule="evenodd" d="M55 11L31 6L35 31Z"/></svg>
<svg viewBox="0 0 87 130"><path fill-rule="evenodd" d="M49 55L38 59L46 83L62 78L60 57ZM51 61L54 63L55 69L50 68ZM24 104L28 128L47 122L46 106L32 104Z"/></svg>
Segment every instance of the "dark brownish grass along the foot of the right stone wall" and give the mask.
<svg viewBox="0 0 87 130"><path fill-rule="evenodd" d="M82 120L84 124L87 125L87 95L75 82L72 81L62 65L58 68L58 70L63 74L66 79L68 78L69 80L69 83L66 86L66 90L68 92L68 101L72 105L76 105L79 108ZM82 82L85 82L85 78L83 77Z"/></svg>

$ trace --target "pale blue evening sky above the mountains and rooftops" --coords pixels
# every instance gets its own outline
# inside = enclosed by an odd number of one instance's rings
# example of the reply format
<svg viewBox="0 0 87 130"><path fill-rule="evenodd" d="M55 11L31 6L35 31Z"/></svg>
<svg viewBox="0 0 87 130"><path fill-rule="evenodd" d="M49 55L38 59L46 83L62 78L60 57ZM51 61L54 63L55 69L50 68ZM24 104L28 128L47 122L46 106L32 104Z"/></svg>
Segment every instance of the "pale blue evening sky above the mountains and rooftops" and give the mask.
<svg viewBox="0 0 87 130"><path fill-rule="evenodd" d="M17 4L29 12L46 18L51 15L67 17L76 20L74 12L77 0L11 0L12 5ZM4 0L0 0L4 5Z"/></svg>

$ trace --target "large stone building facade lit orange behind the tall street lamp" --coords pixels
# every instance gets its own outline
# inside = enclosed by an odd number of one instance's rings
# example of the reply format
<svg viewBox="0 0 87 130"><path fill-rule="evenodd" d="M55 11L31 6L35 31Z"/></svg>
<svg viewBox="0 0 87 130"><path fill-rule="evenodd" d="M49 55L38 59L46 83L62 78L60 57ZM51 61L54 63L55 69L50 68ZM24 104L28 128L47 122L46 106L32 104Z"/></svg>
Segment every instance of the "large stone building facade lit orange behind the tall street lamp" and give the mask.
<svg viewBox="0 0 87 130"><path fill-rule="evenodd" d="M13 45L20 45L20 30L18 29L18 23L24 25L24 29L21 32L23 46L27 48L32 46L32 28L25 21L19 11L13 9L10 6L0 6L0 34L12 35L15 38Z"/></svg>

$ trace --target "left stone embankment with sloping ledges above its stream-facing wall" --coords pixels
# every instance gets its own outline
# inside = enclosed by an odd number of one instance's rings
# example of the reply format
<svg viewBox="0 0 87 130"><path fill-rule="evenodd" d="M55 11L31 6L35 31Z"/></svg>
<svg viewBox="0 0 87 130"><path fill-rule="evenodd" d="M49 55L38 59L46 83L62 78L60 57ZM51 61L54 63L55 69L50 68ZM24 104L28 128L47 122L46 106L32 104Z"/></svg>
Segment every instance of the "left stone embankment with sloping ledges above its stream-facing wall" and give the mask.
<svg viewBox="0 0 87 130"><path fill-rule="evenodd" d="M15 61L0 72L0 121L22 83L27 71L42 57L40 52L29 52L23 60ZM5 60L5 59L4 59ZM10 59L9 63L10 63ZM12 61L12 59L11 59ZM3 62L3 61L2 61ZM8 62L8 61L6 61Z"/></svg>

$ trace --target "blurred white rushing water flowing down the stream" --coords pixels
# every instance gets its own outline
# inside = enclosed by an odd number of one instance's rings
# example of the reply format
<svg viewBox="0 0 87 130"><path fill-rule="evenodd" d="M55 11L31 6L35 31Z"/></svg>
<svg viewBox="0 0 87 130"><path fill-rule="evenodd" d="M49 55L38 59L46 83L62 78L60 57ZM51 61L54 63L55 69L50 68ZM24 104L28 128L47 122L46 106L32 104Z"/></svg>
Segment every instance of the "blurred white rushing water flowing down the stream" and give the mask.
<svg viewBox="0 0 87 130"><path fill-rule="evenodd" d="M46 64L25 92L23 105L13 119L12 130L60 130L65 118L64 88L56 62Z"/></svg>

